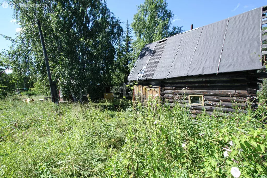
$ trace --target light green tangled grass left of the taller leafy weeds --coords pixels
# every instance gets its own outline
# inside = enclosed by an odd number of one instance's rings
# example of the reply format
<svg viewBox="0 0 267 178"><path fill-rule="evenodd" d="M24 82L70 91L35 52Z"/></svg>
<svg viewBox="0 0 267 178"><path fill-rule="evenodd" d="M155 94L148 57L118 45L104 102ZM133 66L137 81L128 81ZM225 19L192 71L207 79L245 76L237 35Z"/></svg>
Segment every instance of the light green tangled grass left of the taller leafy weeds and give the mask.
<svg viewBox="0 0 267 178"><path fill-rule="evenodd" d="M105 177L130 113L34 99L0 100L0 177Z"/></svg>

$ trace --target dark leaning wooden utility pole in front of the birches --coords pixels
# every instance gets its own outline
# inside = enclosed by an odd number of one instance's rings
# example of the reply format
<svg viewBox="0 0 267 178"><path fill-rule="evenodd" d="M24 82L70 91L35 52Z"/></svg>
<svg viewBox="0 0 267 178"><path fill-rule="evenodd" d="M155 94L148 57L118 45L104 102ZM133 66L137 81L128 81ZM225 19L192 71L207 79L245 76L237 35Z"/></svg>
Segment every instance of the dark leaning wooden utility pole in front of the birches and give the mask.
<svg viewBox="0 0 267 178"><path fill-rule="evenodd" d="M37 24L38 24L38 29L39 29L42 48L43 48L43 51L44 51L45 65L46 65L46 71L47 71L47 75L48 75L48 81L49 81L52 101L54 103L58 104L57 86L56 86L56 82L52 81L52 78L51 78L50 67L49 67L49 63L48 63L48 57L47 57L47 53L46 53L44 37L43 37L43 33L42 33L41 24L40 24L39 19L37 19Z"/></svg>

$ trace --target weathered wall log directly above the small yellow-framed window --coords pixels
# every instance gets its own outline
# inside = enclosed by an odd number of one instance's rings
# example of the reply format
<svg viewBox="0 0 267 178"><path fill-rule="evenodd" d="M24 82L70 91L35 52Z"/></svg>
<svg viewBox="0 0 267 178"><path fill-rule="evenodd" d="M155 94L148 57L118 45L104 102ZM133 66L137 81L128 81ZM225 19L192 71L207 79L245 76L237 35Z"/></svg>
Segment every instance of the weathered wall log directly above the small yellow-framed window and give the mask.
<svg viewBox="0 0 267 178"><path fill-rule="evenodd" d="M246 97L246 90L165 90L164 94L203 94L206 96L241 96Z"/></svg>

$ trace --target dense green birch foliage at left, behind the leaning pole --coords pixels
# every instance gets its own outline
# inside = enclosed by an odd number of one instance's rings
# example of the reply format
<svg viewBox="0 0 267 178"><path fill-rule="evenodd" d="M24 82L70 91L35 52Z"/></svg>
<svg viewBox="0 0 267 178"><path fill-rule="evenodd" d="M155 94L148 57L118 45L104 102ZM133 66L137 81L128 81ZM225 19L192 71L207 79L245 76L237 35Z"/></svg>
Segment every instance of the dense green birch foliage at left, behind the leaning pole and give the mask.
<svg viewBox="0 0 267 178"><path fill-rule="evenodd" d="M22 88L32 87L39 81L42 88L49 89L36 24L39 19L52 80L58 81L64 95L72 93L75 101L81 100L84 92L98 97L99 88L111 83L114 45L122 33L119 19L110 12L106 2L14 0L12 3L34 5L13 7L22 29L17 38L6 37L12 41L7 54L15 80L24 84Z"/></svg>

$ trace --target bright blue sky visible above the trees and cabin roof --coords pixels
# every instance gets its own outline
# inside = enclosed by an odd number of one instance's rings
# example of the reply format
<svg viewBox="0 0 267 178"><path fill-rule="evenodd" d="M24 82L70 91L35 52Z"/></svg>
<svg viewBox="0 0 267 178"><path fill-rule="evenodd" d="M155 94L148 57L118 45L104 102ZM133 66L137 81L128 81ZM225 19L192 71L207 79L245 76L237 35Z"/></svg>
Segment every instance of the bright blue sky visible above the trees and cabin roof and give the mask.
<svg viewBox="0 0 267 178"><path fill-rule="evenodd" d="M128 19L132 22L133 15L137 12L137 6L144 0L107 0L108 8L122 22L123 28ZM267 5L267 0L167 0L168 9L174 14L172 26L183 26L185 31L190 30L191 24L194 28L208 25L237 14L244 13L257 7ZM13 10L9 7L0 6L0 34L15 38L20 26L13 18ZM132 34L133 35L133 34ZM0 51L9 49L11 43L0 36Z"/></svg>

